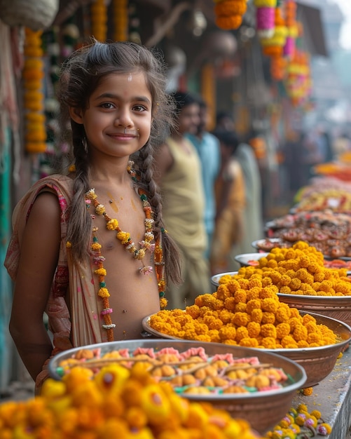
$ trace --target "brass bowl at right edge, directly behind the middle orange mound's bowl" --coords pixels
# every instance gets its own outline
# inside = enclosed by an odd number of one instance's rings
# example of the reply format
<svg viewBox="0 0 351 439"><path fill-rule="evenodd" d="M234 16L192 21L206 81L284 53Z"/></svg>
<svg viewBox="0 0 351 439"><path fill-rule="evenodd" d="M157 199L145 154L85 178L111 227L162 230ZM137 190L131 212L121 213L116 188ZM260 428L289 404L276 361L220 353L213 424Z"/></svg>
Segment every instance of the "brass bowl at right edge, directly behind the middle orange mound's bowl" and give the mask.
<svg viewBox="0 0 351 439"><path fill-rule="evenodd" d="M305 296L278 293L280 302L309 313L336 318L351 326L350 296Z"/></svg>

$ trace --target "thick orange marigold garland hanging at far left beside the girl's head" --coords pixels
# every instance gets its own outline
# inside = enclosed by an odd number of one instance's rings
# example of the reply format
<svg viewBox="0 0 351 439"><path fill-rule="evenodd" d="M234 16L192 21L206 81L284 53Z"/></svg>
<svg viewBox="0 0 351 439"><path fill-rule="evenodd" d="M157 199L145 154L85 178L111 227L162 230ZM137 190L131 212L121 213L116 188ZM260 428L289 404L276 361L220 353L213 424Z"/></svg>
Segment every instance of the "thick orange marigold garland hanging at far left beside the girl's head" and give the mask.
<svg viewBox="0 0 351 439"><path fill-rule="evenodd" d="M42 31L25 29L24 81L25 149L30 153L46 151L46 117L44 114L44 62L41 48Z"/></svg>

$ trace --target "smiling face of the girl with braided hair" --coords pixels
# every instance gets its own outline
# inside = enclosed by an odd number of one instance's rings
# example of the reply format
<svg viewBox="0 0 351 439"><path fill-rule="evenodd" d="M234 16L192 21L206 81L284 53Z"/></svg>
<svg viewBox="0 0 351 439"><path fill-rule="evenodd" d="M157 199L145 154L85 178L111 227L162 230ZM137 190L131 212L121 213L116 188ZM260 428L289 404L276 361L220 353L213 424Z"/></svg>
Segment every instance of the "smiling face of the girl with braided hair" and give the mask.
<svg viewBox="0 0 351 439"><path fill-rule="evenodd" d="M70 114L74 121L83 123L89 154L121 158L146 144L151 109L151 93L143 73L112 73L99 82L87 109L70 109Z"/></svg>

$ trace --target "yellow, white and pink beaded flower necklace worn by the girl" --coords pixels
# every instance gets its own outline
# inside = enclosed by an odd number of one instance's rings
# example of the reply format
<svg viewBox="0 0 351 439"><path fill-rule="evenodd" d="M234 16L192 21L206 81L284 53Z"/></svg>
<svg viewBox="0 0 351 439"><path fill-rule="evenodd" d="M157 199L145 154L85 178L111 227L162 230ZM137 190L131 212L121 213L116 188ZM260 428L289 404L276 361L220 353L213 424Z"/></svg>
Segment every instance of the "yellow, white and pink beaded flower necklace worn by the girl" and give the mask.
<svg viewBox="0 0 351 439"><path fill-rule="evenodd" d="M132 180L136 179L136 173L135 170L132 169L132 165L134 162L128 161L128 173L131 175ZM154 254L154 264L155 264L155 271L156 271L156 278L158 281L158 294L160 296L160 308L164 309L165 306L167 306L167 299L165 299L165 276L164 276L164 262L163 262L163 248L162 248L162 236L160 234L160 237L156 241L156 243L151 243L154 239L153 235L153 211L151 208L151 205L146 197L146 194L142 191L142 189L138 189L140 199L142 200L143 209L145 212L145 234L144 234L144 240L142 240L140 244L140 248L137 249L135 243L130 238L130 233L123 231L118 224L118 220L116 218L111 218L109 215L107 215L105 207L103 204L99 203L97 199L97 195L95 194L95 189L89 189L88 192L84 194L85 198L85 205L87 208L90 208L90 205L92 204L95 208L95 213L97 215L102 215L104 219L106 220L106 229L107 230L114 230L117 231L116 238L123 244L131 254L132 257L142 262L142 267L139 269L141 273L148 274L153 272L153 267L151 265L145 265L143 262L143 259L146 255L146 252L149 251L151 254ZM91 215L92 219L94 219L94 215ZM105 257L102 255L101 248L102 245L99 243L99 240L97 238L97 227L92 227L92 244L91 244L91 251L92 251L92 259L94 264L97 265L97 269L94 271L95 274L98 276L99 281L99 291L97 292L97 295L99 297L102 297L102 311L101 315L104 319L104 324L102 327L107 332L107 339L109 342L113 342L113 328L116 327L116 324L112 323L111 320L111 313L113 312L113 309L109 306L109 290L106 288L106 282L105 282L105 276L106 276L106 269L104 268L104 260ZM165 229L161 230L163 233L165 232Z"/></svg>

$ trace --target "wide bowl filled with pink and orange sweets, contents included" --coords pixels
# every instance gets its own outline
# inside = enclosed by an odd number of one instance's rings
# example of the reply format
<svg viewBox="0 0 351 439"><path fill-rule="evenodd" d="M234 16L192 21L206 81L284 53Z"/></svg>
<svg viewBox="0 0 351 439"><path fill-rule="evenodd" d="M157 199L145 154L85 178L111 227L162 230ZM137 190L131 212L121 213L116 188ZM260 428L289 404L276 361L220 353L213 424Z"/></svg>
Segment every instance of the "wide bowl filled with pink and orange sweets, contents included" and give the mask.
<svg viewBox="0 0 351 439"><path fill-rule="evenodd" d="M113 367L124 367L132 375L148 372L151 379L172 387L190 403L225 410L261 434L284 417L306 380L301 365L272 352L176 339L139 339L70 349L50 361L49 372L57 381L64 381L77 370L89 371L101 381L104 371L114 373ZM141 386L135 387L133 399L143 401L144 393ZM163 414L161 408L158 410ZM149 412L149 406L145 410ZM242 437L254 436L242 431ZM238 439L242 437L238 435Z"/></svg>

